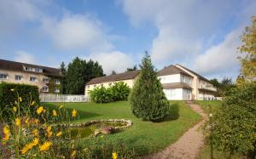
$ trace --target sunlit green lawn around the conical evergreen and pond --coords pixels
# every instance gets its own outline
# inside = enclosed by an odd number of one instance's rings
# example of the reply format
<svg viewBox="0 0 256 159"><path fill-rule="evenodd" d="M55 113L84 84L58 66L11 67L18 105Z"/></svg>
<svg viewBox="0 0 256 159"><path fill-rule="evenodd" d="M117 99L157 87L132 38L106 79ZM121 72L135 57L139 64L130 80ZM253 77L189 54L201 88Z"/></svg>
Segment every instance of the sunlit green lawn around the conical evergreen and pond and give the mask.
<svg viewBox="0 0 256 159"><path fill-rule="evenodd" d="M108 104L96 103L66 103L69 111L79 111L80 120L86 122L94 119L119 119L125 118L133 122L131 128L120 133L107 135L104 138L80 139L84 146L91 144L125 144L129 149L134 149L138 155L148 155L166 148L174 143L187 129L201 120L201 116L189 109L183 101L172 101L172 113L163 122L145 122L131 113L131 105L127 101ZM49 108L54 108L61 103L44 103Z"/></svg>

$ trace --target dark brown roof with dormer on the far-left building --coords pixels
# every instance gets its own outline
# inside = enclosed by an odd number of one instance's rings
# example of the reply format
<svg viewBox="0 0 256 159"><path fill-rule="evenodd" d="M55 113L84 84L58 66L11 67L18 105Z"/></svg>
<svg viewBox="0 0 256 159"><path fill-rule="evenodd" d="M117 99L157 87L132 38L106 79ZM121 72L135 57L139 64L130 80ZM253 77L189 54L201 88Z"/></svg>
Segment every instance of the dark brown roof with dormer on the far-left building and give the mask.
<svg viewBox="0 0 256 159"><path fill-rule="evenodd" d="M43 72L24 71L23 65L27 67L32 67L32 68L43 69ZM21 62L15 62L11 60L0 60L0 69L8 70L8 71L22 71L22 72L29 72L34 74L45 74L50 76L62 77L60 69L42 66L42 65L32 65L32 64L26 64Z"/></svg>

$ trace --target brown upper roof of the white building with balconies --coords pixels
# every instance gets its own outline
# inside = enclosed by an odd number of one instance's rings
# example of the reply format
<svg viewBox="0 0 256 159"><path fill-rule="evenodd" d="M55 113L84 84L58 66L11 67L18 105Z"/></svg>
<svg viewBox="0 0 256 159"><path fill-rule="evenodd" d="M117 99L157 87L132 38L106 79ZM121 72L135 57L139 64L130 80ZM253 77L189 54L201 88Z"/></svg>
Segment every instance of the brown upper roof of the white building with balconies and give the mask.
<svg viewBox="0 0 256 159"><path fill-rule="evenodd" d="M166 76L166 75L174 75L174 74L183 74L189 77L192 77L187 72L183 71L182 69L178 68L175 65L169 65L162 70L158 71L158 76Z"/></svg>

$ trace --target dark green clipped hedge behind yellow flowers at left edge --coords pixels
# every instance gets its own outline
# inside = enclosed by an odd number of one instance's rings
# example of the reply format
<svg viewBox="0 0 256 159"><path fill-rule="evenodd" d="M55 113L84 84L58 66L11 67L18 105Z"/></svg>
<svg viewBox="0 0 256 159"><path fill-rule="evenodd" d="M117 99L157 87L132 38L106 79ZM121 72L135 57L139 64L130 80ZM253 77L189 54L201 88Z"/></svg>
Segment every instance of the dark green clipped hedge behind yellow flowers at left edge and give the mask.
<svg viewBox="0 0 256 159"><path fill-rule="evenodd" d="M12 114L15 101L18 101L18 95L21 97L20 113L25 110L27 106L34 103L39 104L39 93L37 86L15 83L0 83L0 108L1 117L6 118Z"/></svg>

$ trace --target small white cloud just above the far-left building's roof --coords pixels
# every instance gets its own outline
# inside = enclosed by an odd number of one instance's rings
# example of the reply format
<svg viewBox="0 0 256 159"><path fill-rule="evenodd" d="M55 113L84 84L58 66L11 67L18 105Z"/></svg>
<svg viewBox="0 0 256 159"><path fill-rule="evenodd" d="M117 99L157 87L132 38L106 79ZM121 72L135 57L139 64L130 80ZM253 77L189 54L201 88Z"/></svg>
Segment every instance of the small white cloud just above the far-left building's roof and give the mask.
<svg viewBox="0 0 256 159"><path fill-rule="evenodd" d="M23 50L16 51L14 60L28 64L37 64L36 58Z"/></svg>

